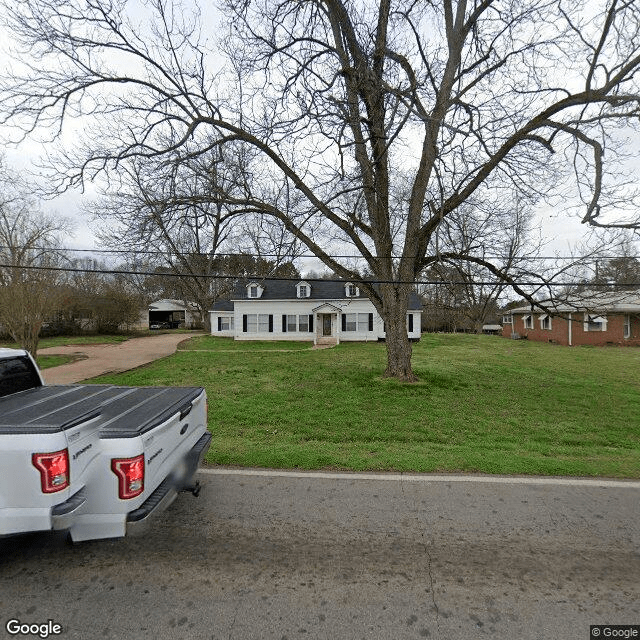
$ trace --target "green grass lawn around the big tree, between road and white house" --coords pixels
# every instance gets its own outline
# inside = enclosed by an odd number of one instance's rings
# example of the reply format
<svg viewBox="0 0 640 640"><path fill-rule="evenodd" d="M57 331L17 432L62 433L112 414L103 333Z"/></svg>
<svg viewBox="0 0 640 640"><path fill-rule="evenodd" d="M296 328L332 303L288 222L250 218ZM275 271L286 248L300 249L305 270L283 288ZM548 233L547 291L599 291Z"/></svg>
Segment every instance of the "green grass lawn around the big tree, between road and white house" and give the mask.
<svg viewBox="0 0 640 640"><path fill-rule="evenodd" d="M427 334L402 384L384 344L248 344L91 382L206 387L212 464L640 477L640 349Z"/></svg>

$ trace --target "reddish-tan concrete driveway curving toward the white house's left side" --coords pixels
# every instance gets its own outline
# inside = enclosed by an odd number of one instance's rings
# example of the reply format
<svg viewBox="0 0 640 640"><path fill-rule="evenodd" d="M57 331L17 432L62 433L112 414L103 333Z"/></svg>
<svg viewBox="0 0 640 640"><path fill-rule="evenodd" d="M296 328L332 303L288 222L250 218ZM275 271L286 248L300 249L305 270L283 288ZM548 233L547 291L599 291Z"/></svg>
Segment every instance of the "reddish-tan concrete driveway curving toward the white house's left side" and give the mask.
<svg viewBox="0 0 640 640"><path fill-rule="evenodd" d="M145 338L131 338L119 344L73 344L39 349L39 355L72 355L82 359L45 369L47 384L73 384L105 373L119 373L165 358L178 345L202 333L163 333Z"/></svg>

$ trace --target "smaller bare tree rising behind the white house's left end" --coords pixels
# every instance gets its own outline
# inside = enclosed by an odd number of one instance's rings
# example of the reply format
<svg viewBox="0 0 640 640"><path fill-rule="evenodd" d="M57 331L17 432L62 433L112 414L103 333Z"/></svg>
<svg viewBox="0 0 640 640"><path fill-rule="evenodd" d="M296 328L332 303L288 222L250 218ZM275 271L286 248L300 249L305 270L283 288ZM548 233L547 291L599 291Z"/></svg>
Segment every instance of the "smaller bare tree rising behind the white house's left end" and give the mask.
<svg viewBox="0 0 640 640"><path fill-rule="evenodd" d="M169 166L125 162L115 192L91 206L104 225L98 234L103 243L129 251L138 266L170 274L175 297L195 303L205 326L208 310L224 293L212 276L231 232L229 213L216 202L224 188L220 167L207 154Z"/></svg>

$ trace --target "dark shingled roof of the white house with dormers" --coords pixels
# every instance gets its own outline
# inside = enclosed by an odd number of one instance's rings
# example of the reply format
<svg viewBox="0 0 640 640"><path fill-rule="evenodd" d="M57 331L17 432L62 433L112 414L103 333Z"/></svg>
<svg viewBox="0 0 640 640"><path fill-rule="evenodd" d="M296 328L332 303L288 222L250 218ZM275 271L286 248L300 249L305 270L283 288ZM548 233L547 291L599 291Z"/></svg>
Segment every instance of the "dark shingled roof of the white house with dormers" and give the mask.
<svg viewBox="0 0 640 640"><path fill-rule="evenodd" d="M368 297L360 290L358 298L346 295L346 281L341 280L280 280L265 278L260 280L259 284L264 288L260 298L249 298L247 296L247 286L255 280L247 280L241 278L236 282L234 291L229 301L219 300L216 302L212 311L230 311L233 309L234 301L253 301L253 300L367 300ZM306 298L298 298L297 286L301 283L308 284L310 287L310 295ZM225 304L231 306L226 307ZM415 292L409 295L409 309L412 311L422 310L420 298Z"/></svg>

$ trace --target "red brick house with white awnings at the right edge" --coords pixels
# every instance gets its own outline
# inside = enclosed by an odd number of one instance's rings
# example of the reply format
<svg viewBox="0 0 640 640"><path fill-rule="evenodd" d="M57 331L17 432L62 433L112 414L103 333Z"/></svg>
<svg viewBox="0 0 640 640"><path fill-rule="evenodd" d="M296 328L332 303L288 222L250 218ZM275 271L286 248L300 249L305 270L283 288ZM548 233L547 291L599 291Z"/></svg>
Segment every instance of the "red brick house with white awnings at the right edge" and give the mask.
<svg viewBox="0 0 640 640"><path fill-rule="evenodd" d="M519 307L503 317L502 335L566 346L640 346L640 296L637 292L584 294L550 305L548 313Z"/></svg>

